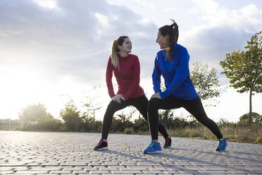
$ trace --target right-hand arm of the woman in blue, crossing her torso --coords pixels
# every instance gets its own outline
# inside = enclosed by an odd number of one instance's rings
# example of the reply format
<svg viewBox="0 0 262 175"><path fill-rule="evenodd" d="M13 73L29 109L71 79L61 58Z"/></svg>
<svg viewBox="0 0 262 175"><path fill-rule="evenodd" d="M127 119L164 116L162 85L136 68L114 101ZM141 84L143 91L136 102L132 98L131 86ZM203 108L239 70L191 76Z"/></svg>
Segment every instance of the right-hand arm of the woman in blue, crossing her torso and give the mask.
<svg viewBox="0 0 262 175"><path fill-rule="evenodd" d="M173 81L164 92L160 92L161 99L165 99L166 97L168 97L185 81L188 71L188 62L189 54L187 53L187 49L183 49L180 54L180 60Z"/></svg>

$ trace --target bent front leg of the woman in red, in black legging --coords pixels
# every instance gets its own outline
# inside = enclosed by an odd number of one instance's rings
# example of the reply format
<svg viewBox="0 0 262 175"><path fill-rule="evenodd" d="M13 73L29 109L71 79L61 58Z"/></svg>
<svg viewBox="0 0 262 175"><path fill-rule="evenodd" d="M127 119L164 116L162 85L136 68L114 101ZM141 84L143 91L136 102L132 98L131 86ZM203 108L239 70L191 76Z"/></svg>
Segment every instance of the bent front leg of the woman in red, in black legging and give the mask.
<svg viewBox="0 0 262 175"><path fill-rule="evenodd" d="M127 107L129 104L129 100L121 100L121 103L114 102L113 100L108 104L108 107L106 109L106 113L104 115L104 121L103 121L103 128L102 128L102 139L107 139L109 129L112 124L113 120L113 114L120 110Z"/></svg>

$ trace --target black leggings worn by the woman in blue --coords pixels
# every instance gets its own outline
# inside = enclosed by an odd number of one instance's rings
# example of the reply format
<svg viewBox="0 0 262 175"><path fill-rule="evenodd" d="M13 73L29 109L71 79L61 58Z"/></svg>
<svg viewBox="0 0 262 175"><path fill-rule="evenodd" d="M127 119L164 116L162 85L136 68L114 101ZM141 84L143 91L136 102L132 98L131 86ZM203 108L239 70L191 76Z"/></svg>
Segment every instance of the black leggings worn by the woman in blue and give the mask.
<svg viewBox="0 0 262 175"><path fill-rule="evenodd" d="M180 107L187 109L197 121L209 128L218 139L223 138L218 125L206 116L199 97L191 100L183 100L169 96L166 99L152 98L149 100L148 117L152 140L158 140L158 131L155 129L158 128L158 109L177 109Z"/></svg>

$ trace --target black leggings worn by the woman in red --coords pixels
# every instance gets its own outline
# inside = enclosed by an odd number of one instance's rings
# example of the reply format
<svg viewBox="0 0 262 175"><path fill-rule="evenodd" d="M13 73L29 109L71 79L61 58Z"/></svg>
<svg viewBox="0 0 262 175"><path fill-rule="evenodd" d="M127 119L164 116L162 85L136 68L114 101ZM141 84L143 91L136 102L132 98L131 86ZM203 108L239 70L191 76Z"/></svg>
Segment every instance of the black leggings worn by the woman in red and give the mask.
<svg viewBox="0 0 262 175"><path fill-rule="evenodd" d="M103 129L102 129L102 139L107 139L109 129L111 127L112 121L113 121L113 114L120 110L124 109L127 106L134 106L137 108L137 110L142 114L144 119L147 120L147 106L148 106L149 100L146 98L145 95L142 95L141 97L135 97L130 98L127 100L122 100L121 103L114 102L111 100L111 102L108 104L108 107L106 109L106 114L104 115L104 121L103 121ZM166 131L165 126L163 126L162 123L158 124L158 130L163 135L164 138L168 137L168 132ZM156 131L158 133L158 131Z"/></svg>

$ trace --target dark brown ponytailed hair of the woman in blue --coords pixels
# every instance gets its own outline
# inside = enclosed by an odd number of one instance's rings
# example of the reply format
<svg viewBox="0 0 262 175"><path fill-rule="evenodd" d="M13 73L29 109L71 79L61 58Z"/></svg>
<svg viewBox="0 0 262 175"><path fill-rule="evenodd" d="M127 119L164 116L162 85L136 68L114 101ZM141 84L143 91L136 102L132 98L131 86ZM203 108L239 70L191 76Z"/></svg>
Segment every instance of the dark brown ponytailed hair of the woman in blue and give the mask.
<svg viewBox="0 0 262 175"><path fill-rule="evenodd" d="M163 36L169 35L168 47L170 47L170 49L168 50L168 60L172 61L173 47L178 40L179 32L178 25L175 23L175 20L170 20L173 21L173 24L164 25L163 27L159 28L158 31L161 32L161 35Z"/></svg>

